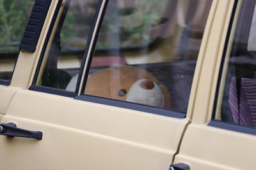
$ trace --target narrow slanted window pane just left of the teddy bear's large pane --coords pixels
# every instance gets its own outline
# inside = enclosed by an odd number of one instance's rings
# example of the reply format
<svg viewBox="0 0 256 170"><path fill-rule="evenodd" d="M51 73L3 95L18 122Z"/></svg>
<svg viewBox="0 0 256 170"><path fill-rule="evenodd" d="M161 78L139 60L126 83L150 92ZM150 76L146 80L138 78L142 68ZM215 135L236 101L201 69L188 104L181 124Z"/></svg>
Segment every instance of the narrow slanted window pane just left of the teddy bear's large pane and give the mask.
<svg viewBox="0 0 256 170"><path fill-rule="evenodd" d="M70 79L79 73L84 48L98 1L66 1L65 8L47 44L35 85L74 92ZM74 87L76 82L74 82Z"/></svg>

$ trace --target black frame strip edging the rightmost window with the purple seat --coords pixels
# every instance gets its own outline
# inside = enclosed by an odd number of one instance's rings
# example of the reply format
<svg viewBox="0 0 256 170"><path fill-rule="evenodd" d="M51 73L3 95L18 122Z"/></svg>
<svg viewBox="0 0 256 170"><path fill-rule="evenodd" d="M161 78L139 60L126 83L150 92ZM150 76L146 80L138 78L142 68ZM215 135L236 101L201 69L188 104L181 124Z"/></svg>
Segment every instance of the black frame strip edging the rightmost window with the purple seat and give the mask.
<svg viewBox="0 0 256 170"><path fill-rule="evenodd" d="M236 11L237 11L237 3L238 3L238 0L236 0L234 2L232 15L231 15L231 18L230 18L230 24L228 25L227 38L226 38L226 41L225 41L225 46L224 46L223 54L222 54L222 58L221 58L220 73L218 74L218 83L217 83L216 92L215 92L214 106L212 108L212 118L211 118L211 122L209 122L209 124L207 124L207 125L209 125L211 127L226 129L226 130L229 130L229 131L243 132L245 134L256 135L256 129L254 129L252 127L246 127L246 126L243 126L243 125L231 124L231 123L228 123L228 122L223 122L221 120L216 120L215 119L216 108L217 108L217 104L218 104L218 95L219 95L219 92L220 92L220 83L221 83L221 78L222 78L222 74L223 74L223 67L224 67L225 57L226 57L226 54L227 54L228 42L230 41L230 34L231 34L231 31L232 31L232 26L234 24L234 17L236 15Z"/></svg>

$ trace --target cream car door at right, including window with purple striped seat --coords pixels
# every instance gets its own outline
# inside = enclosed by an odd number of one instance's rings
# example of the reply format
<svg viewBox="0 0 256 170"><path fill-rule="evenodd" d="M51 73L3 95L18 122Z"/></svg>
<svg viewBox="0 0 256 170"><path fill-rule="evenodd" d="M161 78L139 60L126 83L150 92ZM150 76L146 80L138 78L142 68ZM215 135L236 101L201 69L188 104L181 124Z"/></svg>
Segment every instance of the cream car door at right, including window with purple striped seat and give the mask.
<svg viewBox="0 0 256 170"><path fill-rule="evenodd" d="M255 169L255 1L219 1L218 9L192 122L174 162L191 169Z"/></svg>

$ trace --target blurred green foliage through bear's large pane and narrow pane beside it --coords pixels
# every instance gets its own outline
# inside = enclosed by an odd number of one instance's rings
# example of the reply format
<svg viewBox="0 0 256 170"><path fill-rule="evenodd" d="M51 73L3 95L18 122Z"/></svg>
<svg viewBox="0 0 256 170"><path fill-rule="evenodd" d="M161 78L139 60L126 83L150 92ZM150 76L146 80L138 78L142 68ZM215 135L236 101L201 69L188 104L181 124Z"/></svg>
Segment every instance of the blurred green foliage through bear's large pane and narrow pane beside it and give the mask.
<svg viewBox="0 0 256 170"><path fill-rule="evenodd" d="M84 48L92 26L98 1L71 1L61 33L62 48ZM166 4L169 0L111 0L101 27L97 48L147 45L154 38L153 27L163 24ZM83 4L83 6L81 6ZM67 30L65 30L67 29ZM69 34L68 34L69 32Z"/></svg>

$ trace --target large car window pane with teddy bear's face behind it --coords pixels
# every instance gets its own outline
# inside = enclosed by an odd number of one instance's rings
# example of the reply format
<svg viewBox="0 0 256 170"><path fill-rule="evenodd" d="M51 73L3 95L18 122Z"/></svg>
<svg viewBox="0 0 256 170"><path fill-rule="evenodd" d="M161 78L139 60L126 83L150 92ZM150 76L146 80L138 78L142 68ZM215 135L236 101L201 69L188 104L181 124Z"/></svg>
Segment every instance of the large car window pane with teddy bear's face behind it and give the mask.
<svg viewBox="0 0 256 170"><path fill-rule="evenodd" d="M84 94L186 112L211 3L110 0Z"/></svg>

